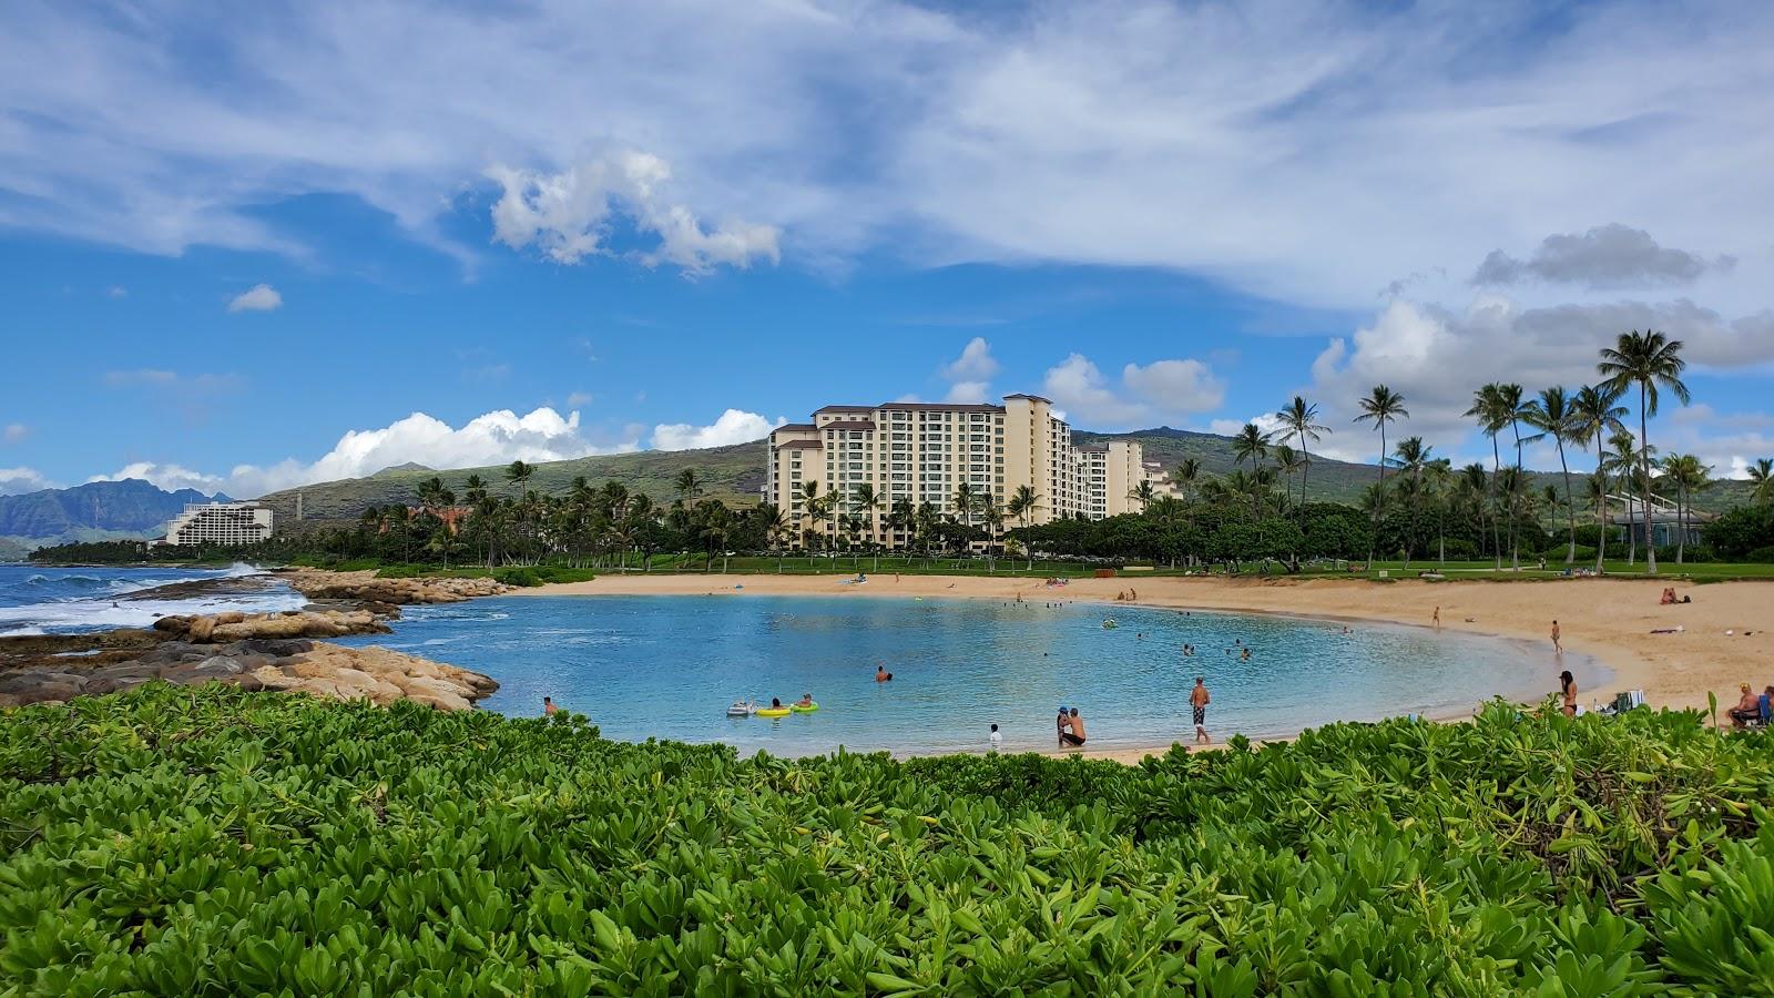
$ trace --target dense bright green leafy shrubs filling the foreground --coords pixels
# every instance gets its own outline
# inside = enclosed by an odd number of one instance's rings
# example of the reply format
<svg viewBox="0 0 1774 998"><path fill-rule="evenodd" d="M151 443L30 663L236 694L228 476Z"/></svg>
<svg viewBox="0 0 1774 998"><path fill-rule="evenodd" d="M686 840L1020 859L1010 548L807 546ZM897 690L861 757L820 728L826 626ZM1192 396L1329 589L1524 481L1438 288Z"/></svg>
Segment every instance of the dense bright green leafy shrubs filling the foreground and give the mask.
<svg viewBox="0 0 1774 998"><path fill-rule="evenodd" d="M0 714L0 994L1767 994L1770 746L740 760L151 685Z"/></svg>

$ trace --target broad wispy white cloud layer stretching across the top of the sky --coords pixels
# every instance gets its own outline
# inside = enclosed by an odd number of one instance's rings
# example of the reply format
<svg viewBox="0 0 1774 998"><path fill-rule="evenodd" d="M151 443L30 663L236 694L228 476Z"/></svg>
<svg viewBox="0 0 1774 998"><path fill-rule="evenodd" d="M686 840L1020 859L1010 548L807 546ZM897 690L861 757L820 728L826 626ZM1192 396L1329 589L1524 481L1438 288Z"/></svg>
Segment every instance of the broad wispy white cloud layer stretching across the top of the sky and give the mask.
<svg viewBox="0 0 1774 998"><path fill-rule="evenodd" d="M255 208L314 192L447 245L438 217L479 211L475 178L516 163L543 172L509 170L506 234L585 254L607 247L587 192L633 181L573 172L639 147L681 185L644 213L660 259L704 265L777 240L697 217L768 211L816 263L1151 265L1338 307L1611 220L1739 254L1703 277L1731 311L1774 268L1765 4L1591 4L1549 27L1535 4L390 0L225 32L37 4L7 28L0 220L153 252L312 252ZM215 59L176 57L197 48Z"/></svg>

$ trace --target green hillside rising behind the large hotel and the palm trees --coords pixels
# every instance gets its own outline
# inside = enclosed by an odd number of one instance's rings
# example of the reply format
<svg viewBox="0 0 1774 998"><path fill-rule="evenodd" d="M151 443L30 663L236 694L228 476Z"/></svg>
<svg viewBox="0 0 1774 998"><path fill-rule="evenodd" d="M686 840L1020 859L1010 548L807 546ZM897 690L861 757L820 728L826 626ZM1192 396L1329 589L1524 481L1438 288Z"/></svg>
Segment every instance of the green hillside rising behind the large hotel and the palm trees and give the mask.
<svg viewBox="0 0 1774 998"><path fill-rule="evenodd" d="M1196 433L1169 426L1135 430L1132 433L1089 433L1080 430L1077 440L1080 444L1139 440L1146 451L1146 460L1158 462L1166 469L1176 467L1183 458L1197 458L1208 474L1228 474L1235 467L1231 439L1215 433ZM1586 458L1588 455L1577 456L1572 467L1574 476L1588 469ZM536 478L530 479L530 487L545 494L561 494L568 490L573 478L585 476L596 485L621 481L630 492L646 494L658 503L669 503L678 495L672 481L685 469L694 469L697 478L703 479L704 495L729 503L756 503L765 483L765 444L763 440L756 440L703 451L639 451L632 455L546 462L536 465ZM302 494L305 526L316 526L351 520L369 506L412 503L419 483L433 474L442 478L444 485L458 494L463 492L470 474L484 478L495 495L514 494L514 487L506 483L504 467L500 465L431 471L410 463L380 471L369 478L321 481L303 485L302 488L273 492L259 501L275 510L279 531L302 529L293 527L296 524L296 492ZM1355 503L1361 490L1373 483L1375 476L1377 471L1371 463L1315 456L1311 467L1311 497L1313 501ZM1556 472L1538 472L1535 487L1542 485L1559 485L1559 476ZM1575 483L1574 488L1581 488L1581 483ZM1746 483L1721 481L1698 495L1694 506L1699 510L1723 510L1746 503L1747 495Z"/></svg>

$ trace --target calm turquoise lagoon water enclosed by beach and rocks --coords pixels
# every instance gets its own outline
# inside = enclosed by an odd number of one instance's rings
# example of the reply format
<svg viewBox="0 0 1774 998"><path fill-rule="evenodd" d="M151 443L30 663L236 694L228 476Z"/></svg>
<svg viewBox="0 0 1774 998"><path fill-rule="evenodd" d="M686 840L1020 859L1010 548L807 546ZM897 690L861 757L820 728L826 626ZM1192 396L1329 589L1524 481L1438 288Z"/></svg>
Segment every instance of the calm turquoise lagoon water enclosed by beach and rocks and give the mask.
<svg viewBox="0 0 1774 998"><path fill-rule="evenodd" d="M1105 630L1112 614L1119 627ZM742 753L977 751L997 723L1006 749L1056 748L1059 705L1093 748L1194 735L1189 691L1206 677L1208 730L1277 737L1330 721L1458 716L1495 696L1538 698L1570 668L1604 669L1540 643L1417 627L1087 604L843 597L502 597L408 607L383 645L500 682L483 707L541 712L543 696L605 737L727 742ZM1236 643L1235 643L1236 641ZM1181 646L1197 646L1183 657ZM1251 661L1236 650L1251 648ZM875 666L894 673L875 682ZM726 717L742 696L821 709Z"/></svg>

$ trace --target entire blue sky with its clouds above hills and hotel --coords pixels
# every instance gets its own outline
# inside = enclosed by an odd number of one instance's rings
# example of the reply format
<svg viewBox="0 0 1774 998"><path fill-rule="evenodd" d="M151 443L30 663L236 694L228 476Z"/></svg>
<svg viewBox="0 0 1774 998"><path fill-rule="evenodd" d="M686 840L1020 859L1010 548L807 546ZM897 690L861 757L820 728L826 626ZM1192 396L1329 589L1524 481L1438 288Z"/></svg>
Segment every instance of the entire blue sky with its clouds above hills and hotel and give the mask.
<svg viewBox="0 0 1774 998"><path fill-rule="evenodd" d="M1034 391L1293 392L1476 458L1472 387L1689 343L1774 455L1762 4L14 4L0 492L268 488ZM1646 71L1655 66L1655 71ZM1535 455L1545 465L1550 455Z"/></svg>

